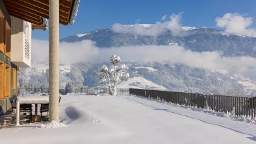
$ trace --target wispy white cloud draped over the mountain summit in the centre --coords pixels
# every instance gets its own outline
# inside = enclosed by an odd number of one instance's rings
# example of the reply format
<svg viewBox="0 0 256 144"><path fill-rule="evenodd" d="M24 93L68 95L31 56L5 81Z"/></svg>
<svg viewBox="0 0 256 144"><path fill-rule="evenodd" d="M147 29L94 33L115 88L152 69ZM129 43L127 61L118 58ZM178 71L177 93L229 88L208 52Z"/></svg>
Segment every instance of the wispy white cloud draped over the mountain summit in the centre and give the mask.
<svg viewBox="0 0 256 144"><path fill-rule="evenodd" d="M173 14L170 16L170 21L164 21L163 23L157 22L153 25L145 25L135 24L135 25L122 25L120 23L116 23L112 25L112 30L118 33L125 34L138 34L142 36L159 36L162 32L165 32L167 29L172 32L174 36L181 36L182 28L181 28L181 16L182 12L179 14ZM166 15L162 17L162 19L166 19Z"/></svg>

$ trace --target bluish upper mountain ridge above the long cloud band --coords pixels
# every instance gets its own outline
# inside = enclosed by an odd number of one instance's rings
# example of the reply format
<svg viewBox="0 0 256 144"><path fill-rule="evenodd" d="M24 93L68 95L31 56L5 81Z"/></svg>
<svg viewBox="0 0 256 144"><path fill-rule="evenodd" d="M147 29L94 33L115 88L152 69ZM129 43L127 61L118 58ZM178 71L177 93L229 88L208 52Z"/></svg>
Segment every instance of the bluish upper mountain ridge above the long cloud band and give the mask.
<svg viewBox="0 0 256 144"><path fill-rule="evenodd" d="M183 36L173 36L166 30L157 37L131 33L118 33L112 29L84 32L60 42L92 40L97 47L121 47L127 45L183 45L192 51L220 51L224 56L256 57L256 38L240 36L212 28L183 27Z"/></svg>

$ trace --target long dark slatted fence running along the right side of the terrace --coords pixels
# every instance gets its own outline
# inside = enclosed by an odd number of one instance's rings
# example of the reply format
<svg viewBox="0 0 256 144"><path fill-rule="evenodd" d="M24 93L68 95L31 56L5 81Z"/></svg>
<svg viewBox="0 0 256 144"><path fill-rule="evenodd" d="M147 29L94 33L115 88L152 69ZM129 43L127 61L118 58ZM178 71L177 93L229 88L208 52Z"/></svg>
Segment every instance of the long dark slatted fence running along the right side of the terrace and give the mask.
<svg viewBox="0 0 256 144"><path fill-rule="evenodd" d="M227 115L251 117L256 119L256 97L233 97L226 95L203 95L201 93L183 93L129 89L131 95L138 95L161 101L172 102L207 111L224 112Z"/></svg>

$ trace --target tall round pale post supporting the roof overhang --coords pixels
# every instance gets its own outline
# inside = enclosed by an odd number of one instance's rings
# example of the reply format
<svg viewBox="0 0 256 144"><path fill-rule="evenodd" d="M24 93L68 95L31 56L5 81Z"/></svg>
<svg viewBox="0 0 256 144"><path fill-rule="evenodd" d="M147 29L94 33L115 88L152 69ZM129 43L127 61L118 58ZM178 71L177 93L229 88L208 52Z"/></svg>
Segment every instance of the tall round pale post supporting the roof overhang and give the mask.
<svg viewBox="0 0 256 144"><path fill-rule="evenodd" d="M59 121L59 0L49 0L49 122Z"/></svg>

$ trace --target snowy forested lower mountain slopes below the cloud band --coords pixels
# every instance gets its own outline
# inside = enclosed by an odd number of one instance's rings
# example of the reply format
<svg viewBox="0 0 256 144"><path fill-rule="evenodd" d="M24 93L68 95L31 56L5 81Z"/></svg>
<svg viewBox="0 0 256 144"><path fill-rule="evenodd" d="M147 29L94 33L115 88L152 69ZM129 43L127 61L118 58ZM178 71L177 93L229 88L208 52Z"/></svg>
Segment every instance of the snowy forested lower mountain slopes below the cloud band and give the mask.
<svg viewBox="0 0 256 144"><path fill-rule="evenodd" d="M65 73L60 71L60 88L65 88L66 83L88 87L100 86L98 69L101 65L77 63L62 66L61 69L68 69L68 71ZM125 63L125 65L128 67L126 71L131 78L127 82L123 82L119 88L146 88L225 95L255 94L255 89L243 91L243 84L249 84L250 81L246 81L238 75L229 75L224 72L209 71L183 64L137 62ZM38 68L21 69L19 78L25 78L27 83L33 86L47 87L47 69L42 69L44 67L42 65L38 66Z"/></svg>

